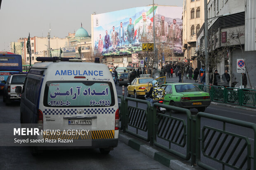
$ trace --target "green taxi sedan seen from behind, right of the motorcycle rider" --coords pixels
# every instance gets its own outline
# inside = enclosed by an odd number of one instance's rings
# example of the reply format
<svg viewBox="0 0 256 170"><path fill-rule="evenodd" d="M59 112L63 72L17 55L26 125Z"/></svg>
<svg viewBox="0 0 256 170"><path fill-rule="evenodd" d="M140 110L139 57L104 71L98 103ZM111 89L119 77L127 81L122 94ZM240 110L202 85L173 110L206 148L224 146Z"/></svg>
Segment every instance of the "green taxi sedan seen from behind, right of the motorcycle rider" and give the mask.
<svg viewBox="0 0 256 170"><path fill-rule="evenodd" d="M170 83L163 84L166 95L164 104L183 107L186 109L196 108L199 112L204 112L211 103L209 93L202 91L195 84Z"/></svg>

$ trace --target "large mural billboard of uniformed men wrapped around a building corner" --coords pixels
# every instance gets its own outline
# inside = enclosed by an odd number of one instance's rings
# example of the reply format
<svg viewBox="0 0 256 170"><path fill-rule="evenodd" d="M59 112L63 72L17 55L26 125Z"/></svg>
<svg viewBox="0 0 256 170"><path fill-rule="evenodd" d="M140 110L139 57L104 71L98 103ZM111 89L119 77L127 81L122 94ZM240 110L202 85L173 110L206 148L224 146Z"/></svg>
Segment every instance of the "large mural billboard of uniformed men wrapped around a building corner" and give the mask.
<svg viewBox="0 0 256 170"><path fill-rule="evenodd" d="M182 53L182 7L155 6L155 43ZM153 42L153 7L93 15L94 50L106 55L134 54Z"/></svg>

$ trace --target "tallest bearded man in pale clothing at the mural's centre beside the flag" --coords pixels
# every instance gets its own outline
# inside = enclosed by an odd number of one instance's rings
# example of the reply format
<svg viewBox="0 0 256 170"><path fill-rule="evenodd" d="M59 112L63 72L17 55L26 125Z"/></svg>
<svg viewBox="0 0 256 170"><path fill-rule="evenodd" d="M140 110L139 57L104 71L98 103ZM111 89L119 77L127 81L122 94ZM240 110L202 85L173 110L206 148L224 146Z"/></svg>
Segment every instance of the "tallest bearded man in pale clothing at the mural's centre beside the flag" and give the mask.
<svg viewBox="0 0 256 170"><path fill-rule="evenodd" d="M147 40L151 40L153 23L150 19L147 19L146 12L142 12L142 19L139 22L139 26L137 28L137 39L139 42L146 42Z"/></svg>

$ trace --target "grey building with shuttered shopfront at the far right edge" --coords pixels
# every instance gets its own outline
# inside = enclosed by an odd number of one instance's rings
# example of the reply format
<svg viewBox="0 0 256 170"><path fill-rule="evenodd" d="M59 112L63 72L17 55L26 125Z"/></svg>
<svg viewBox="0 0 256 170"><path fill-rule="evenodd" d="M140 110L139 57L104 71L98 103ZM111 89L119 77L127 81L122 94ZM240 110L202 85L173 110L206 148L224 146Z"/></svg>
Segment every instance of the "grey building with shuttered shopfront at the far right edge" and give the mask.
<svg viewBox="0 0 256 170"><path fill-rule="evenodd" d="M250 5L249 5L250 4ZM250 7L246 7L246 6ZM237 60L245 60L249 75L247 87L251 82L256 87L256 28L255 28L255 0L210 0L208 2L208 37L209 57L218 57L210 54L211 51L225 53L220 58L217 70L222 75L228 70L231 82L241 85L241 73L237 72ZM213 18L213 19L211 19ZM254 23L254 24L252 24ZM203 28L201 28L203 29ZM252 32L254 30L254 33ZM198 37L199 55L204 55L204 31ZM212 56L211 56L212 55ZM210 63L211 64L211 63ZM250 80L249 80L250 79Z"/></svg>

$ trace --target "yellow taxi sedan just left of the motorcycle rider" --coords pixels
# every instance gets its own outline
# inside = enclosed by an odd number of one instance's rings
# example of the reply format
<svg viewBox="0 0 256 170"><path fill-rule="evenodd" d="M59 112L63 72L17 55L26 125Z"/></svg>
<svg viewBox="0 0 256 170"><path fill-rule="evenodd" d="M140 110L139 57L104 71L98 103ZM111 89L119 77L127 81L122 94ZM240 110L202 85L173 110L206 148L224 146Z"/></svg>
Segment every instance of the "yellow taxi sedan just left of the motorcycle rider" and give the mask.
<svg viewBox="0 0 256 170"><path fill-rule="evenodd" d="M134 98L138 98L140 96L145 95L145 90L149 91L152 87L153 78L151 77L140 77L135 78L130 85L127 86L126 95L130 97L130 95L134 95ZM164 84L166 82L166 77L159 77L156 79L160 84Z"/></svg>

